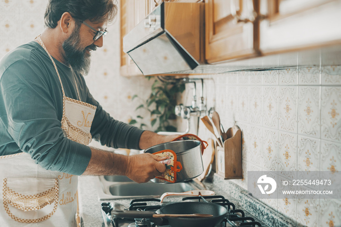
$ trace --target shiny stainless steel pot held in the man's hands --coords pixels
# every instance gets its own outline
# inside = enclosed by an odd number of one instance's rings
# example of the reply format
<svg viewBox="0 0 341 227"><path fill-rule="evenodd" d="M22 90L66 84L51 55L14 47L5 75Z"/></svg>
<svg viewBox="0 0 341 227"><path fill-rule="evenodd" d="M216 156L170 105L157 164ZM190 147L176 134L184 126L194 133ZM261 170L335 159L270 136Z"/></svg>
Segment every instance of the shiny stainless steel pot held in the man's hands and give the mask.
<svg viewBox="0 0 341 227"><path fill-rule="evenodd" d="M188 181L199 176L203 171L203 160L201 158L202 143L199 140L177 140L168 143L158 144L146 149L145 153L171 150L176 153L177 161L182 165L182 170L177 172L174 183ZM155 183L169 184L170 182L153 178Z"/></svg>

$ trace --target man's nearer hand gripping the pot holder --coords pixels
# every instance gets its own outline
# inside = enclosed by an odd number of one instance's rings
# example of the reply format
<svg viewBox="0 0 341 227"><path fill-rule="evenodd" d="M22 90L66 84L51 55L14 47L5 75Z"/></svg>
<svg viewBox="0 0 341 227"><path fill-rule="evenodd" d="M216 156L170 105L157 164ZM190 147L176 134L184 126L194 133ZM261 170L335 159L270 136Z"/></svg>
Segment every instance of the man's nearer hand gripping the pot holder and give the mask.
<svg viewBox="0 0 341 227"><path fill-rule="evenodd" d="M165 159L151 153L129 156L125 175L137 183L145 183L166 171L166 166L159 163Z"/></svg>

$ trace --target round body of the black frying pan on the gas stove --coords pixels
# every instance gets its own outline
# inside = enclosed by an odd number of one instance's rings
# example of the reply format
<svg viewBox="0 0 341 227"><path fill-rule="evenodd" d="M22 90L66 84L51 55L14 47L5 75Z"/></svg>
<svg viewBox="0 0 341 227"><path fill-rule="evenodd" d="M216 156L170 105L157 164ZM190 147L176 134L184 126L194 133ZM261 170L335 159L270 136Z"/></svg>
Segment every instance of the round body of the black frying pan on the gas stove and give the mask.
<svg viewBox="0 0 341 227"><path fill-rule="evenodd" d="M226 217L227 209L221 205L205 202L173 203L160 208L162 214L212 214L208 218L167 217L172 227L214 227Z"/></svg>

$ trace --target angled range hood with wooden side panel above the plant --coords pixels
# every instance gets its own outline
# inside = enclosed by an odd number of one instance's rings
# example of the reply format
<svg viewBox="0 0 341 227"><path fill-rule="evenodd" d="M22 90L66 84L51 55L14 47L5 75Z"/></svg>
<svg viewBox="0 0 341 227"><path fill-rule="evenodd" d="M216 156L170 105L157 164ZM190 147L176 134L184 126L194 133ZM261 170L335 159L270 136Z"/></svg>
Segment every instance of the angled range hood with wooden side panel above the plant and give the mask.
<svg viewBox="0 0 341 227"><path fill-rule="evenodd" d="M204 3L163 2L123 38L143 75L190 71L204 63Z"/></svg>

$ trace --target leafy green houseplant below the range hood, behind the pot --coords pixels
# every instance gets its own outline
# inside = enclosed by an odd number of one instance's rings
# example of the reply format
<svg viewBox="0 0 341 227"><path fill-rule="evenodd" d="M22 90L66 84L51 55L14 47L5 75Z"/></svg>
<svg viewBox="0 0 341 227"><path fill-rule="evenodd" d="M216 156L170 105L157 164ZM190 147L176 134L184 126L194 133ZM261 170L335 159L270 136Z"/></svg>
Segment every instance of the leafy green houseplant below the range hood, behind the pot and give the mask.
<svg viewBox="0 0 341 227"><path fill-rule="evenodd" d="M155 77L147 76L147 78L150 80ZM151 127L158 123L155 132L176 132L176 127L172 126L170 121L176 119L174 108L177 104L177 96L182 94L184 90L184 83L174 82L174 80L161 81L155 78L152 84L151 94L147 100L141 99L142 104L140 104L136 110L144 108L151 114ZM138 95L133 95L132 100L134 98L138 98ZM141 129L148 127L148 125L143 122L143 117L141 115L137 115L136 119L132 118L129 124L139 124L138 127Z"/></svg>

